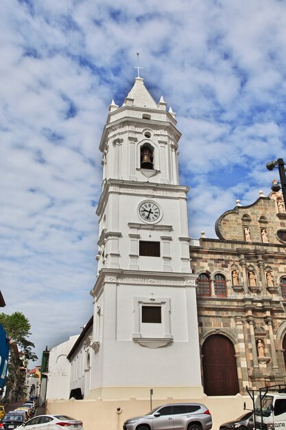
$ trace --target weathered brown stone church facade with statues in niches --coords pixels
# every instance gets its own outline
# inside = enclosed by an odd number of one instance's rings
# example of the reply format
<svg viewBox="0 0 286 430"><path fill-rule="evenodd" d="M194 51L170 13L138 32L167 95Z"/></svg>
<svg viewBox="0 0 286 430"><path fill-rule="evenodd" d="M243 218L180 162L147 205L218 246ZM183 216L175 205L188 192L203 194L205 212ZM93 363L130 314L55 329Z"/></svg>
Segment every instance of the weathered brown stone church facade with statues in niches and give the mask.
<svg viewBox="0 0 286 430"><path fill-rule="evenodd" d="M286 214L283 196L260 192L222 214L190 246L198 274L202 384L208 396L286 383Z"/></svg>

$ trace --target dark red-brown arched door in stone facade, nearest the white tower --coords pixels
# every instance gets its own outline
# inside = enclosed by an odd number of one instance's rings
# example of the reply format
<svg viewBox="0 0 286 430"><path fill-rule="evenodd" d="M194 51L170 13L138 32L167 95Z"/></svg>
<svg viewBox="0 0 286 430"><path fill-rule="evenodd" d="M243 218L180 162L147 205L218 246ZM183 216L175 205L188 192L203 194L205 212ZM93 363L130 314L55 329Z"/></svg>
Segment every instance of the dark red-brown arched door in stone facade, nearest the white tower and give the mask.
<svg viewBox="0 0 286 430"><path fill-rule="evenodd" d="M202 346L204 392L207 396L235 396L239 393L235 348L226 337L212 335Z"/></svg>

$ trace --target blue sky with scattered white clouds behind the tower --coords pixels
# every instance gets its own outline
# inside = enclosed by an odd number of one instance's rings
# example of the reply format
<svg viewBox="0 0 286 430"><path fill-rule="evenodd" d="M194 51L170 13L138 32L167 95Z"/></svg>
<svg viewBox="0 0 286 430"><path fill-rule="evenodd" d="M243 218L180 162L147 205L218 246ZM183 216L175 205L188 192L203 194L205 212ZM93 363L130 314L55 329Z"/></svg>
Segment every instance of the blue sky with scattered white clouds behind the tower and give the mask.
<svg viewBox="0 0 286 430"><path fill-rule="evenodd" d="M176 112L189 234L270 192L285 154L286 4L266 0L2 0L0 288L36 352L92 313L112 99L141 76Z"/></svg>

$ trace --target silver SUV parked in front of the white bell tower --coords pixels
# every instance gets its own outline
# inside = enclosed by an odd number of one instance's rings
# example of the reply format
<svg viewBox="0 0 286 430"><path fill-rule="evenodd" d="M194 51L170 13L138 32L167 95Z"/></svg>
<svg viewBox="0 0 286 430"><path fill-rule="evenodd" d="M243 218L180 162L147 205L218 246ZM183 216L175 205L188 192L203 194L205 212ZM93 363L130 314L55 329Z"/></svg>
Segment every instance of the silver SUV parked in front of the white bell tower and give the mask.
<svg viewBox="0 0 286 430"><path fill-rule="evenodd" d="M200 403L172 403L153 409L149 414L129 418L123 430L209 430L210 411Z"/></svg>

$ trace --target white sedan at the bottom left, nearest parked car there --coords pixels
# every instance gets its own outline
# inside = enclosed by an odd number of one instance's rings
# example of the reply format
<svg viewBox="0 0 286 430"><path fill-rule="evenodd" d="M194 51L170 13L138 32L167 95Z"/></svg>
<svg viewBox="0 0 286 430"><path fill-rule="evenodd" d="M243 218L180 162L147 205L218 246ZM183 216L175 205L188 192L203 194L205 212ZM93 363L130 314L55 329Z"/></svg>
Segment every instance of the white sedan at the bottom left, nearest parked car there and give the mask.
<svg viewBox="0 0 286 430"><path fill-rule="evenodd" d="M84 430L82 421L75 420L66 415L38 415L31 420L25 422L24 425L18 427L17 430L23 429L39 429L39 430L60 430L68 428L69 430Z"/></svg>

